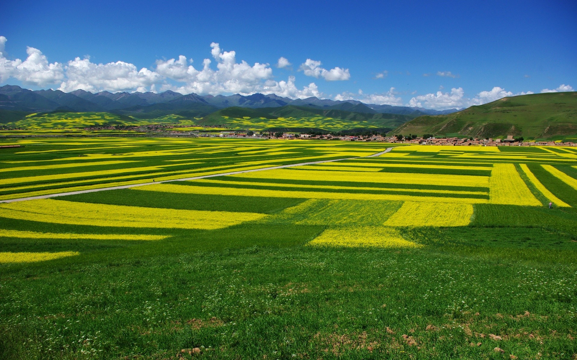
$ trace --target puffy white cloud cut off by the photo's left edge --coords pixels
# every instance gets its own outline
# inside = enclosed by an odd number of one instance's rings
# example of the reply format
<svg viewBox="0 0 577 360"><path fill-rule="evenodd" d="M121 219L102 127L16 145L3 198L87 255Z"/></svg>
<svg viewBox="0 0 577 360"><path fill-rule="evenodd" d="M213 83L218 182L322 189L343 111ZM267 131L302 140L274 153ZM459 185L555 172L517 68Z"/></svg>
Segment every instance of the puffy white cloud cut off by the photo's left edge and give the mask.
<svg viewBox="0 0 577 360"><path fill-rule="evenodd" d="M0 36L0 81L14 78L24 84L44 86L55 84L64 78L62 64L48 63L46 55L36 48L26 48L28 57L24 61L6 58L6 41L6 37Z"/></svg>

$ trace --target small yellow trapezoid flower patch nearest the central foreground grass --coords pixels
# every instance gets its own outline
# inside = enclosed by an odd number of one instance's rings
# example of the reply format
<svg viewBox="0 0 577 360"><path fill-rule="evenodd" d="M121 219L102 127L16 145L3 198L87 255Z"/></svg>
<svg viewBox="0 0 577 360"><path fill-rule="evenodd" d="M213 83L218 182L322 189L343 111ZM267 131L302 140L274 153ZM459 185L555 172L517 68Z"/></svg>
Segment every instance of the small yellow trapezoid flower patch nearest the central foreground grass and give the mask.
<svg viewBox="0 0 577 360"><path fill-rule="evenodd" d="M393 228L384 226L356 226L324 230L310 241L312 246L330 247L376 247L376 248L418 248L422 245L404 240Z"/></svg>

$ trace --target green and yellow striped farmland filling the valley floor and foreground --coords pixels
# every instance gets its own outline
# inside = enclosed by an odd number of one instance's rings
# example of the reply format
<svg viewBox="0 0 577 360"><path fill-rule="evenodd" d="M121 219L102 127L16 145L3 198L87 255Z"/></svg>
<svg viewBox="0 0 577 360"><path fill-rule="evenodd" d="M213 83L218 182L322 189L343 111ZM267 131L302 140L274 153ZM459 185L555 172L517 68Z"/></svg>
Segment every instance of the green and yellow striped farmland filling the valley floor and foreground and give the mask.
<svg viewBox="0 0 577 360"><path fill-rule="evenodd" d="M4 200L174 180L0 203L2 359L577 357L572 148L1 142Z"/></svg>

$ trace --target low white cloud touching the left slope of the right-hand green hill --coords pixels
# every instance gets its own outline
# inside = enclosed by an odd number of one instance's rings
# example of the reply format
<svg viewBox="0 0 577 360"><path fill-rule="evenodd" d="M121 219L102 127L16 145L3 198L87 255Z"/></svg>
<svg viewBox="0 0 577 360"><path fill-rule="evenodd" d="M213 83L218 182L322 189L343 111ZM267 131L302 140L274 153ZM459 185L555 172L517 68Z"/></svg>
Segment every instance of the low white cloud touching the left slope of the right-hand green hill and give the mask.
<svg viewBox="0 0 577 360"><path fill-rule="evenodd" d="M499 100L507 96L533 94L533 92L512 93L499 86L494 86L493 89L482 91L473 98L464 97L463 88L452 88L451 92L437 91L425 95L419 95L409 100L408 106L428 108L428 109L451 109L451 108L466 108L472 105L481 105L490 103L491 101Z"/></svg>

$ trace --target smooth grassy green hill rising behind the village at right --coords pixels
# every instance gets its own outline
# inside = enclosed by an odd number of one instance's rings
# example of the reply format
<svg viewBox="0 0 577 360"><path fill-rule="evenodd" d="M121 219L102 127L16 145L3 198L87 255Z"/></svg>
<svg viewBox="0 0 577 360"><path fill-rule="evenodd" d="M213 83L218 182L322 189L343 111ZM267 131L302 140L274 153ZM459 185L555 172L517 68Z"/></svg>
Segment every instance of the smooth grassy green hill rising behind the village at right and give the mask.
<svg viewBox="0 0 577 360"><path fill-rule="evenodd" d="M504 97L449 115L419 116L396 134L564 139L577 134L577 92Z"/></svg>

